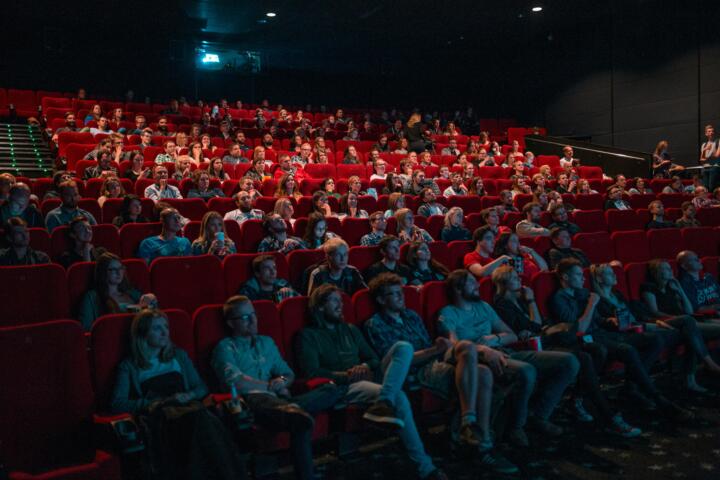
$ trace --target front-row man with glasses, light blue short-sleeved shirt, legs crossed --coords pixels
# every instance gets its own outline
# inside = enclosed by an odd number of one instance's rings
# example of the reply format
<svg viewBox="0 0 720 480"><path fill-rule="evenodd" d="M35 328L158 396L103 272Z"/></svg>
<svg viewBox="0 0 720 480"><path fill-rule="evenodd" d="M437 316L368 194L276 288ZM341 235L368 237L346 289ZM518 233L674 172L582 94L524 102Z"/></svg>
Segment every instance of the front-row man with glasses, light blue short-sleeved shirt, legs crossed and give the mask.
<svg viewBox="0 0 720 480"><path fill-rule="evenodd" d="M217 344L211 361L221 387L241 394L259 425L290 432L296 478L314 479L312 415L332 407L338 389L328 384L292 397L288 387L295 375L273 339L258 335L258 318L250 299L241 295L229 298L223 305L223 318L232 333Z"/></svg>

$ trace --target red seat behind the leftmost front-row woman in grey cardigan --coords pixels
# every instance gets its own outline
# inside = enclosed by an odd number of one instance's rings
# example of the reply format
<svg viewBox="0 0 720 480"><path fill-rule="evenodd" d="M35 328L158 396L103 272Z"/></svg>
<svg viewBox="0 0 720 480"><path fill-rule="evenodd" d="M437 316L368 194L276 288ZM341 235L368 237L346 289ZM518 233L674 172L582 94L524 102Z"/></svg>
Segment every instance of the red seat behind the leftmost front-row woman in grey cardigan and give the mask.
<svg viewBox="0 0 720 480"><path fill-rule="evenodd" d="M185 350L191 359L195 358L195 341L190 316L177 309L164 309L163 312L168 316L172 342ZM103 315L95 320L90 330L93 384L97 410L101 413L110 410L117 366L130 354L130 325L133 317L132 313Z"/></svg>

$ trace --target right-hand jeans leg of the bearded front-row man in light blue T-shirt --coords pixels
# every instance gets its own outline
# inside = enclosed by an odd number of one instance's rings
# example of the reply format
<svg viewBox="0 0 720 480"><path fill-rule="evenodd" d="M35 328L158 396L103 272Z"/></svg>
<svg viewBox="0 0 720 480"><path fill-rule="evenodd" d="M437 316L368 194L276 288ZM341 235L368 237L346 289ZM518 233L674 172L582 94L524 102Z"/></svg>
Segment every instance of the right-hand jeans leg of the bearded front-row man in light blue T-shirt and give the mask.
<svg viewBox="0 0 720 480"><path fill-rule="evenodd" d="M510 354L510 358L535 367L537 385L531 410L534 416L547 420L565 389L575 381L580 363L573 354L565 352L521 351Z"/></svg>

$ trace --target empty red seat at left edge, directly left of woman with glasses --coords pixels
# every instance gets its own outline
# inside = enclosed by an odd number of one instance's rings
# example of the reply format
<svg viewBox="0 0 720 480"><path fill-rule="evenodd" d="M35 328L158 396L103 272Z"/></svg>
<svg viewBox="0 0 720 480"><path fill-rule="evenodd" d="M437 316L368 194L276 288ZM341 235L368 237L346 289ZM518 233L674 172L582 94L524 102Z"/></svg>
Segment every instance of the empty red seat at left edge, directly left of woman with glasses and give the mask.
<svg viewBox="0 0 720 480"><path fill-rule="evenodd" d="M0 326L68 318L65 269L56 264L0 268Z"/></svg>

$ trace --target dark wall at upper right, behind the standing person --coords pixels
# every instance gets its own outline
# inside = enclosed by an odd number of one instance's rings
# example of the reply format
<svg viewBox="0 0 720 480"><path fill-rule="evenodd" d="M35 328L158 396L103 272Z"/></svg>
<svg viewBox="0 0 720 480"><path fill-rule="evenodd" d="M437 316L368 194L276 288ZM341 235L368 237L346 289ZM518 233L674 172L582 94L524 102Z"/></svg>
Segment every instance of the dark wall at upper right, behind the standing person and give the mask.
<svg viewBox="0 0 720 480"><path fill-rule="evenodd" d="M639 151L666 139L679 163L696 164L703 126L720 121L718 6L610 6L606 18L561 30L547 46L549 131Z"/></svg>

